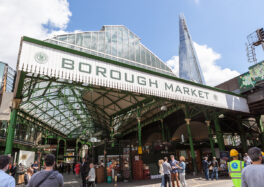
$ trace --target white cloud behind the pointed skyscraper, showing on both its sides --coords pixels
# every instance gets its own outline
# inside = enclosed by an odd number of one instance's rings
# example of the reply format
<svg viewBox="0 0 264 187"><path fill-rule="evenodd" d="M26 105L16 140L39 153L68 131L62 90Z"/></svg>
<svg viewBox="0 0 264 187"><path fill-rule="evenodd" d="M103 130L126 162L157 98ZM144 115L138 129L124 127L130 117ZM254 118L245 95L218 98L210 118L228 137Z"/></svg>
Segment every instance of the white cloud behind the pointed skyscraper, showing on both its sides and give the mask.
<svg viewBox="0 0 264 187"><path fill-rule="evenodd" d="M207 45L199 45L194 42L194 48L207 85L216 86L240 74L235 70L222 68L217 65L216 61L221 58L221 55ZM172 68L176 76L179 76L179 57L173 56L166 63Z"/></svg>

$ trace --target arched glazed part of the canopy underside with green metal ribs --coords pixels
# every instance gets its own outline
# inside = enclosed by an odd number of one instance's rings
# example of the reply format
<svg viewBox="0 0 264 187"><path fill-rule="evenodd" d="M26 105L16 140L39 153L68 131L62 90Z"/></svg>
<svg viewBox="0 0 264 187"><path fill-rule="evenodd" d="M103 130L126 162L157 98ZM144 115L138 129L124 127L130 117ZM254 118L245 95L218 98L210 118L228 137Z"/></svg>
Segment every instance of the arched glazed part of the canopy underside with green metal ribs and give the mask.
<svg viewBox="0 0 264 187"><path fill-rule="evenodd" d="M48 79L27 78L20 110L65 135L81 134L82 129L92 133L95 121L81 98L84 89Z"/></svg>

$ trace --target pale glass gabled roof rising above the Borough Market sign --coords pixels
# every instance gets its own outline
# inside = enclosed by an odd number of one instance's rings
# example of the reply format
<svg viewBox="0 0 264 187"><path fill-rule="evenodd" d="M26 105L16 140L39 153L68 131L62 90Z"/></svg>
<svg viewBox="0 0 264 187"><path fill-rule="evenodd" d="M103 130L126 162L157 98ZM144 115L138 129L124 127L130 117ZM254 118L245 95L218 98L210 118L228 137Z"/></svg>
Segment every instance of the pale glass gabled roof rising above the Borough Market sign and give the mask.
<svg viewBox="0 0 264 187"><path fill-rule="evenodd" d="M175 76L171 69L147 49L140 38L122 25L103 26L100 31L58 35L47 42L129 65Z"/></svg>

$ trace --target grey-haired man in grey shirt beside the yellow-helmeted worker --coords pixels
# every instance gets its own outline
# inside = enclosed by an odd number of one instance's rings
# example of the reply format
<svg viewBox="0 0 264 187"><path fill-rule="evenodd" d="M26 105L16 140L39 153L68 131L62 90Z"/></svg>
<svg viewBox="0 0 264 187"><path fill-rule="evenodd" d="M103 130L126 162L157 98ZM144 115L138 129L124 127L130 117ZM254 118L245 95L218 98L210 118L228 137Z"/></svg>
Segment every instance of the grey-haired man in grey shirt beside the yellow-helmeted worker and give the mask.
<svg viewBox="0 0 264 187"><path fill-rule="evenodd" d="M241 187L262 187L264 186L264 165L262 165L261 150L252 147L248 150L252 164L242 170Z"/></svg>

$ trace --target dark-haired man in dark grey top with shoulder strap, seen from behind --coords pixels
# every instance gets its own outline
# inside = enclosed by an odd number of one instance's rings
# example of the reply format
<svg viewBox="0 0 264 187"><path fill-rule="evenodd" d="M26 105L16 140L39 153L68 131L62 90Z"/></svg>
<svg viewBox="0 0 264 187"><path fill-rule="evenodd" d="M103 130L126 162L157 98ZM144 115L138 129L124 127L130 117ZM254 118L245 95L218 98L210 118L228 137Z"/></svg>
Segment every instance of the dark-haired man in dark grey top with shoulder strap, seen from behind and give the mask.
<svg viewBox="0 0 264 187"><path fill-rule="evenodd" d="M27 187L62 187L63 176L58 172L54 171L55 156L53 154L47 154L44 160L45 169L35 173Z"/></svg>

